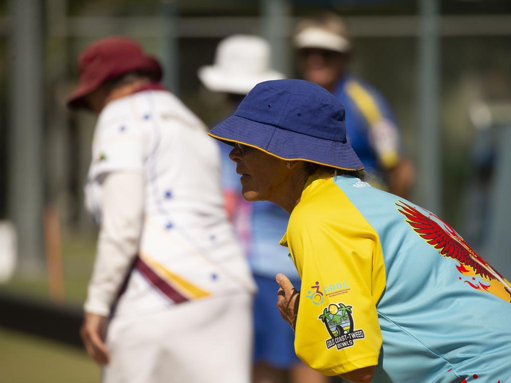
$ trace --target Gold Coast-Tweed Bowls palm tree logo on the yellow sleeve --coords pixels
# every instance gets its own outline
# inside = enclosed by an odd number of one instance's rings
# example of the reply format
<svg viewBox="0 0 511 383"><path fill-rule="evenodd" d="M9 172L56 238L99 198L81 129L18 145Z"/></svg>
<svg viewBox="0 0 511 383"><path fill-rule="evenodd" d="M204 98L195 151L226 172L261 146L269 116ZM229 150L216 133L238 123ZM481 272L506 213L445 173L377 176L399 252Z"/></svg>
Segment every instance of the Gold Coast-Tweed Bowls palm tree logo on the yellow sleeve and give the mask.
<svg viewBox="0 0 511 383"><path fill-rule="evenodd" d="M323 322L330 335L326 340L328 349L336 346L341 350L353 346L355 340L365 338L362 329L355 329L352 314L353 306L344 303L331 303L323 309L323 314L318 319Z"/></svg>

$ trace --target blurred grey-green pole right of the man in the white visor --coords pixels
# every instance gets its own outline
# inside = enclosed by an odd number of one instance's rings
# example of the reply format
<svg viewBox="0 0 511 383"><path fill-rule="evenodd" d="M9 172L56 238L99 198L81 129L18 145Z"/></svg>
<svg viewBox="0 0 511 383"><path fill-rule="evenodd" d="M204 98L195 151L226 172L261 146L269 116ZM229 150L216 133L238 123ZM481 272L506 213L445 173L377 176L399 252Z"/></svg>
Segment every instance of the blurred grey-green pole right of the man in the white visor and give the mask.
<svg viewBox="0 0 511 383"><path fill-rule="evenodd" d="M420 0L419 36L419 177L420 203L441 214L438 124L438 0Z"/></svg>

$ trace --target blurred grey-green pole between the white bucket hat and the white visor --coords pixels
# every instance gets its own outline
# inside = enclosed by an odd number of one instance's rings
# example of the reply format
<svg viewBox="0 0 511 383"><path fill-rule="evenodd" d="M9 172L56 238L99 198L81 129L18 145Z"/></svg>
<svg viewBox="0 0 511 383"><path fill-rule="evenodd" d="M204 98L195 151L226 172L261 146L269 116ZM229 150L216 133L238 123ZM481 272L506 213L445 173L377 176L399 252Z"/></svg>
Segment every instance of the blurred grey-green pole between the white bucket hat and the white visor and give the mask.
<svg viewBox="0 0 511 383"><path fill-rule="evenodd" d="M271 46L271 64L273 69L284 74L291 72L289 42L287 37L291 26L289 25L289 0L262 0L263 1L263 33Z"/></svg>

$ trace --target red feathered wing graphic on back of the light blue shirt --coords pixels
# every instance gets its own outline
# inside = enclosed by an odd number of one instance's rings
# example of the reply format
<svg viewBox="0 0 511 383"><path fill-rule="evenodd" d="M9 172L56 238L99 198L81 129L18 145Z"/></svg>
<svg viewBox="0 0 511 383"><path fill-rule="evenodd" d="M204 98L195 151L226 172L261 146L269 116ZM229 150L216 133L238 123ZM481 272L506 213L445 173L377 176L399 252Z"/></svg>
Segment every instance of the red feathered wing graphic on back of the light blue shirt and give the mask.
<svg viewBox="0 0 511 383"><path fill-rule="evenodd" d="M462 265L472 267L475 273L480 276L489 280L495 279L495 276L481 265L487 265L486 262L479 257L449 225L446 224L451 232L450 234L442 226L431 218L426 217L419 210L403 201L399 202L401 202L401 205L396 203L396 205L401 208L398 209L398 211L407 218L406 222L415 232L423 237L428 244L437 249L440 254L454 258ZM479 262L475 259L478 259Z"/></svg>

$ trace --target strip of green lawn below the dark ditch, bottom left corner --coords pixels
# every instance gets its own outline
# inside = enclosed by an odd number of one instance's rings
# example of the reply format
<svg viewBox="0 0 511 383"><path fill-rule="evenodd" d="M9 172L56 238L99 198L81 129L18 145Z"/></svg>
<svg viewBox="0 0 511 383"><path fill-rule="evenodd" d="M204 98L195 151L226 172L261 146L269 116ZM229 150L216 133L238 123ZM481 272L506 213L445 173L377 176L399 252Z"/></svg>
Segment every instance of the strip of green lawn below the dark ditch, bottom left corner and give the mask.
<svg viewBox="0 0 511 383"><path fill-rule="evenodd" d="M0 327L2 382L94 383L100 375L84 351Z"/></svg>

